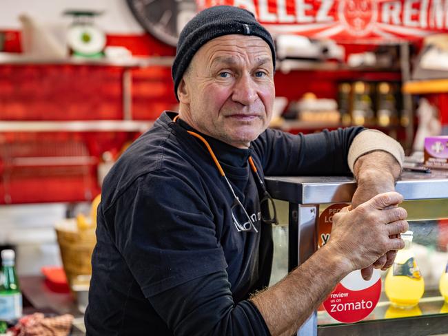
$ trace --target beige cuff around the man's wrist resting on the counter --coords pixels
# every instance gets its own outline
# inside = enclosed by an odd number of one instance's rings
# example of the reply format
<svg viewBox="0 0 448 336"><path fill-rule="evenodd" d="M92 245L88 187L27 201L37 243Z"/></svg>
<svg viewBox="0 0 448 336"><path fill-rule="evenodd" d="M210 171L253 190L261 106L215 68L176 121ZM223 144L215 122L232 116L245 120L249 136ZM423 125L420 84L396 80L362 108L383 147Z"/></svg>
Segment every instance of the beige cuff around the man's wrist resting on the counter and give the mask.
<svg viewBox="0 0 448 336"><path fill-rule="evenodd" d="M365 129L354 138L349 148L348 164L352 173L356 160L370 151L387 151L387 153L396 158L403 169L403 161L405 160L403 147L383 132L376 129Z"/></svg>

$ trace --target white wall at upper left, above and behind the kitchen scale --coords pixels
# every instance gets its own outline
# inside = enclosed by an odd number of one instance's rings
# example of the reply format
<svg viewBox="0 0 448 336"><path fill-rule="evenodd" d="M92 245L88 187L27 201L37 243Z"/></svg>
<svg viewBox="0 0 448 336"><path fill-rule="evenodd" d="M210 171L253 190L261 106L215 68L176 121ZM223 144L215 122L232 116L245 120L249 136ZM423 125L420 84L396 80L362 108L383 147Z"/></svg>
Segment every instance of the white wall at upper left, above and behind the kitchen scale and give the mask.
<svg viewBox="0 0 448 336"><path fill-rule="evenodd" d="M96 25L110 34L141 34L143 29L134 19L125 0L0 0L0 30L20 30L17 17L30 14L45 25L69 24L64 10L101 10Z"/></svg>

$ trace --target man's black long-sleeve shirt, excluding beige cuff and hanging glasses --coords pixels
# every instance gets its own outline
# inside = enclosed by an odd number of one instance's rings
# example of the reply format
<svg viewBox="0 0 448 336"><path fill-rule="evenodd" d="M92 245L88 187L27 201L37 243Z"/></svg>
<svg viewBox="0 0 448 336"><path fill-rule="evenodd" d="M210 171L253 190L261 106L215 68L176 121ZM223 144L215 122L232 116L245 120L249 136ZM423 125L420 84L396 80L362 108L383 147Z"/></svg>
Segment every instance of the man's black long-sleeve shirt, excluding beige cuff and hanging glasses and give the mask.
<svg viewBox="0 0 448 336"><path fill-rule="evenodd" d="M267 286L272 228L259 220L266 175L349 174L362 127L298 135L267 129L250 149L205 136L256 232L237 231L233 196L203 143L164 112L105 178L92 257L88 335L269 335L247 301Z"/></svg>

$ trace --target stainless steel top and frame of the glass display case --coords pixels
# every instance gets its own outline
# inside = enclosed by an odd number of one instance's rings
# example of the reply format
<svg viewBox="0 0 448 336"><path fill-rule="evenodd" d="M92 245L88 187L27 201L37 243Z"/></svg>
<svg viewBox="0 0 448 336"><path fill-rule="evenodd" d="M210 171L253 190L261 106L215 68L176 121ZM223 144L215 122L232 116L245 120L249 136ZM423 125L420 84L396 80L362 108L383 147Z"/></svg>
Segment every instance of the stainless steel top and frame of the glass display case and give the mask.
<svg viewBox="0 0 448 336"><path fill-rule="evenodd" d="M316 251L319 204L351 202L356 181L347 176L271 176L265 180L273 198L289 202L288 271L292 271ZM396 182L396 191L411 202L448 199L448 171L433 170L431 174L405 171ZM447 332L447 314L376 317L357 324L327 324L318 328L315 312L297 335L434 335Z"/></svg>

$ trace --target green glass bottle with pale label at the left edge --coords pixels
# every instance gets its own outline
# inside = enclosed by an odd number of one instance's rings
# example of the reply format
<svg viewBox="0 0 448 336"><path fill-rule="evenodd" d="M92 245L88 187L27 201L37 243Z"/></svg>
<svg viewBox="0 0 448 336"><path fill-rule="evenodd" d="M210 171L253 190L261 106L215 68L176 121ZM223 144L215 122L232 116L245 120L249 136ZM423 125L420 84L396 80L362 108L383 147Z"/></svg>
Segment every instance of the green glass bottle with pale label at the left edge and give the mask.
<svg viewBox="0 0 448 336"><path fill-rule="evenodd" d="M14 267L15 253L1 251L0 320L9 321L22 316L22 293Z"/></svg>

